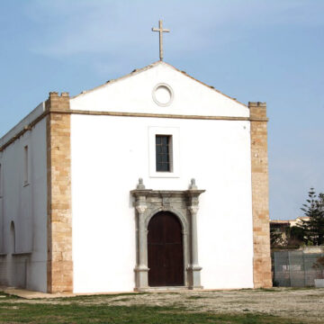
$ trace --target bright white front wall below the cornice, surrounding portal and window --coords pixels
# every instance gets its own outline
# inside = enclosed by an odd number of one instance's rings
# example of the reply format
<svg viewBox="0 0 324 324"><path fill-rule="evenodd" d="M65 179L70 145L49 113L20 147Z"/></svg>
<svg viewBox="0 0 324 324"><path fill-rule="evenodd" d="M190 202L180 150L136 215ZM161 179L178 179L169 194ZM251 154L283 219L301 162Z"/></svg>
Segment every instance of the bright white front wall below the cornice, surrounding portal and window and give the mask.
<svg viewBox="0 0 324 324"><path fill-rule="evenodd" d="M112 104L95 99L94 104L79 106L75 100L71 101L74 109L98 110L98 104ZM188 103L186 112L192 108ZM179 103L175 109L183 108ZM246 114L244 109L241 114ZM149 127L178 128L179 177L149 177ZM72 115L71 153L76 293L133 290L135 211L130 190L139 177L155 190L185 190L194 177L198 187L206 190L198 213L202 285L253 287L248 121Z"/></svg>

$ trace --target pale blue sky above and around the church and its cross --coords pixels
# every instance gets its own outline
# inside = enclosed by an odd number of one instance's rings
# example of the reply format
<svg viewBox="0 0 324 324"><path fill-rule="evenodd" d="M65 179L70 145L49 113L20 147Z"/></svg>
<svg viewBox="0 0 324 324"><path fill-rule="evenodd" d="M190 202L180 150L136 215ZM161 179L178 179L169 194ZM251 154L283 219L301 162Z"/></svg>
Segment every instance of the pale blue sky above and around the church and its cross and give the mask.
<svg viewBox="0 0 324 324"><path fill-rule="evenodd" d="M0 0L0 136L48 97L158 59L240 102L267 103L270 217L324 192L324 1Z"/></svg>

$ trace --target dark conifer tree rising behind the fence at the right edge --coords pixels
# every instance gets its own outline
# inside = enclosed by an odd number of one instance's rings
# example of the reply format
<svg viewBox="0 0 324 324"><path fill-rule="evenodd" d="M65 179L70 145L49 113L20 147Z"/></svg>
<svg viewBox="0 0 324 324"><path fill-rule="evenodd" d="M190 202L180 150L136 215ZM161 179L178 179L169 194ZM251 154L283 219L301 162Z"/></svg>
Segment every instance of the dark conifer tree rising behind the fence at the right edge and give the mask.
<svg viewBox="0 0 324 324"><path fill-rule="evenodd" d="M306 244L320 246L324 244L324 193L317 195L311 188L308 196L301 209L309 219L302 220L300 227Z"/></svg>

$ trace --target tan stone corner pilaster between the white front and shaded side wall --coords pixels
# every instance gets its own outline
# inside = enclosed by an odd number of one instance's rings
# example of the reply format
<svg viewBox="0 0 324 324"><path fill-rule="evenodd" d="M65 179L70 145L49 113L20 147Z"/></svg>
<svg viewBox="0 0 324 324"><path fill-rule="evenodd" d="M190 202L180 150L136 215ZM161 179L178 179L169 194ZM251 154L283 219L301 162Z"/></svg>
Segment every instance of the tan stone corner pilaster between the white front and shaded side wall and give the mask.
<svg viewBox="0 0 324 324"><path fill-rule="evenodd" d="M48 293L73 292L69 95L49 93L47 118Z"/></svg>

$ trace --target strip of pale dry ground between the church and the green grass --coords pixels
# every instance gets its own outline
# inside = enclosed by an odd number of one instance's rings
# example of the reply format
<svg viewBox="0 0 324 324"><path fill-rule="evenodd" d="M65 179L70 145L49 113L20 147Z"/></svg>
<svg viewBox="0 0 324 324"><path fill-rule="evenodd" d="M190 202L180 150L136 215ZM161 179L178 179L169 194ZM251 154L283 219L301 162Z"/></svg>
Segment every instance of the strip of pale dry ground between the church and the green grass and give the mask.
<svg viewBox="0 0 324 324"><path fill-rule="evenodd" d="M56 303L109 305L175 306L187 311L216 313L265 313L307 323L324 323L324 289L273 288L237 291L184 291L172 293L132 293L119 295L86 295L58 299L4 299L12 303Z"/></svg>

